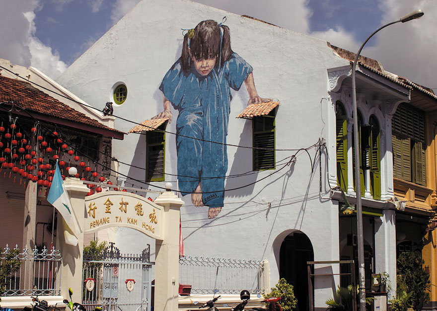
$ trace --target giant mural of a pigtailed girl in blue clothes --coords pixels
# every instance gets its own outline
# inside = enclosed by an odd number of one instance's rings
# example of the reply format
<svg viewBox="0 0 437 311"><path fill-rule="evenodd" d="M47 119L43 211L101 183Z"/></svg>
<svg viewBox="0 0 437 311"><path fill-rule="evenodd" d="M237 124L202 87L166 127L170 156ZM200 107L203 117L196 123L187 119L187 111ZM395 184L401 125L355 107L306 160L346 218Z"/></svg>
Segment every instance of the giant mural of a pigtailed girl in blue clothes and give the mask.
<svg viewBox="0 0 437 311"><path fill-rule="evenodd" d="M178 110L176 148L179 189L191 193L196 207L208 206L208 218L220 213L227 170L226 135L231 91L245 83L249 104L262 99L252 67L230 47L229 28L201 21L184 35L181 57L162 80L164 109L156 118L172 120Z"/></svg>

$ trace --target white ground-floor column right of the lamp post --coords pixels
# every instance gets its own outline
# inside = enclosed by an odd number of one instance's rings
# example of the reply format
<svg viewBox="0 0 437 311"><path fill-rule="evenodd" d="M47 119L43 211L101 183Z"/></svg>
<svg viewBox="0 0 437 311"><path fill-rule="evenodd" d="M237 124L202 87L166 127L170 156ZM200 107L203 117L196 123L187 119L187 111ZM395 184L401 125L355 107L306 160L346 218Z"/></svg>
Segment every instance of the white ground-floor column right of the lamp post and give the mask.
<svg viewBox="0 0 437 311"><path fill-rule="evenodd" d="M396 212L383 210L382 217L375 218L375 272L387 272L391 290L388 299L396 293Z"/></svg>

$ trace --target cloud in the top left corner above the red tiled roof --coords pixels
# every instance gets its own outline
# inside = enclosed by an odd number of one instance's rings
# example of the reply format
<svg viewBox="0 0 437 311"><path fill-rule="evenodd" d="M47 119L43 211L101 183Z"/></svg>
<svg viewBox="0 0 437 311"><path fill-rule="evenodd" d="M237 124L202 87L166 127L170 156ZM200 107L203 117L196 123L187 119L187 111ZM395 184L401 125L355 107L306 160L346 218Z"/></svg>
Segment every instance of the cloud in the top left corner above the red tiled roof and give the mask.
<svg viewBox="0 0 437 311"><path fill-rule="evenodd" d="M0 13L0 57L12 64L33 66L51 78L57 78L67 65L59 54L44 45L35 36L35 11L40 9L38 0L2 2Z"/></svg>

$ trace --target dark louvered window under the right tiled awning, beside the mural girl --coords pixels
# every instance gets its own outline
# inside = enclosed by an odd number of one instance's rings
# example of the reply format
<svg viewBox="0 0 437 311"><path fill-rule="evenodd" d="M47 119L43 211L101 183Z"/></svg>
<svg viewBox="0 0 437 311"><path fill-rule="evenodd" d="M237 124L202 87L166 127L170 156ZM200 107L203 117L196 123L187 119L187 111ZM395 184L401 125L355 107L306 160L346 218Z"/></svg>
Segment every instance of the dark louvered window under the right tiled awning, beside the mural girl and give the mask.
<svg viewBox="0 0 437 311"><path fill-rule="evenodd" d="M266 116L253 117L253 169L275 168L275 109ZM259 149L258 149L259 148Z"/></svg>

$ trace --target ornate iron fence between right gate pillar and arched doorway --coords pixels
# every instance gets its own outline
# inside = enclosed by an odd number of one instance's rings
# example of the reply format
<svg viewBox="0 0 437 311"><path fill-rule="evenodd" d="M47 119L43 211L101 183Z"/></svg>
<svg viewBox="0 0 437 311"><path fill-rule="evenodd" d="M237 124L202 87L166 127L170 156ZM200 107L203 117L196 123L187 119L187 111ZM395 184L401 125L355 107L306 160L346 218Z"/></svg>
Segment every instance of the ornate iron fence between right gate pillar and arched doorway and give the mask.
<svg viewBox="0 0 437 311"><path fill-rule="evenodd" d="M192 286L193 294L263 294L264 261L185 256L179 259L180 284Z"/></svg>

